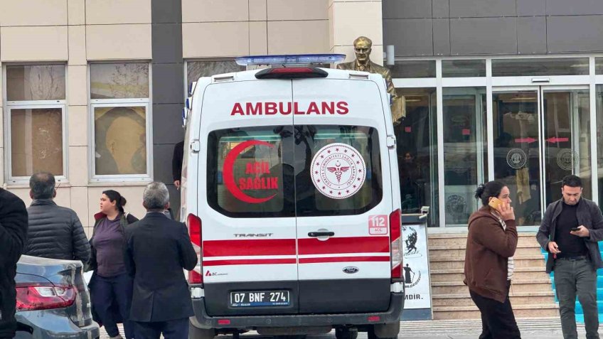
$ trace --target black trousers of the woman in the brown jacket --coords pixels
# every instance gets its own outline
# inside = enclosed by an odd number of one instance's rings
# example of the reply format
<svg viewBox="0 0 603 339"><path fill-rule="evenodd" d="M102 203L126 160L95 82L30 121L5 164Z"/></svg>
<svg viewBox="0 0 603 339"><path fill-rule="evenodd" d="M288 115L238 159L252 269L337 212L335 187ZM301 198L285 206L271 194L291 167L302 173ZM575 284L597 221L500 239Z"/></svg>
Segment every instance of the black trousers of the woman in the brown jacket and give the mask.
<svg viewBox="0 0 603 339"><path fill-rule="evenodd" d="M511 285L511 281L508 282L508 285ZM471 294L471 299L481 312L481 335L479 335L479 339L521 338L508 293L504 303L480 296L471 290L469 290L469 294Z"/></svg>

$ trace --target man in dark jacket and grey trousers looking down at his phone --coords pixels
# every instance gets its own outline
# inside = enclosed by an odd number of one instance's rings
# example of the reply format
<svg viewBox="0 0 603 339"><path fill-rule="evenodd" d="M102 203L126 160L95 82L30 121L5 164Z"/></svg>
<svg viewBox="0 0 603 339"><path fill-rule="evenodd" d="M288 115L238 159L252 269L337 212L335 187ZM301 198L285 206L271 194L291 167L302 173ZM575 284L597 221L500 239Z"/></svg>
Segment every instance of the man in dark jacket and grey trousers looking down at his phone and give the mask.
<svg viewBox="0 0 603 339"><path fill-rule="evenodd" d="M555 270L555 287L564 338L578 338L576 294L585 316L586 338L599 338L597 269L603 267L599 244L603 215L597 204L582 198L582 181L565 176L562 198L548 205L536 239L549 252L546 271Z"/></svg>

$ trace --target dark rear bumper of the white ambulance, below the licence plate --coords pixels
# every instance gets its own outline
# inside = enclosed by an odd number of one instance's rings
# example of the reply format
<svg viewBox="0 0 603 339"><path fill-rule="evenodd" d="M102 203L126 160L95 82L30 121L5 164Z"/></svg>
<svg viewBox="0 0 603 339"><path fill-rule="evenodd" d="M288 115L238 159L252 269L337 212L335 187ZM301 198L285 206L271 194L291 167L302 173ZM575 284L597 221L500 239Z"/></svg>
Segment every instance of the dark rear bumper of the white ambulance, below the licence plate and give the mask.
<svg viewBox="0 0 603 339"><path fill-rule="evenodd" d="M375 313L338 313L338 314L291 314L286 316L208 316L205 298L193 299L195 316L191 324L196 328L239 328L253 329L265 327L318 327L333 325L373 325L378 323L397 323L404 308L404 294L392 293L388 311ZM368 317L378 316L379 321L368 321ZM228 319L228 325L218 323L219 319Z"/></svg>

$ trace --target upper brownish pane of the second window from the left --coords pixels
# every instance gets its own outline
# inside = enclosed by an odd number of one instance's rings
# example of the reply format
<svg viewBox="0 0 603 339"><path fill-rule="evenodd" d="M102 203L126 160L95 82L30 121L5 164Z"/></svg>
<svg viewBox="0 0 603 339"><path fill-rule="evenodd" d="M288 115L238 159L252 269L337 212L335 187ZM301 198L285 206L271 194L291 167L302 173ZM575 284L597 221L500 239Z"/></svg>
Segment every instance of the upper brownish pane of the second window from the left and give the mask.
<svg viewBox="0 0 603 339"><path fill-rule="evenodd" d="M90 99L148 97L148 63L90 64Z"/></svg>

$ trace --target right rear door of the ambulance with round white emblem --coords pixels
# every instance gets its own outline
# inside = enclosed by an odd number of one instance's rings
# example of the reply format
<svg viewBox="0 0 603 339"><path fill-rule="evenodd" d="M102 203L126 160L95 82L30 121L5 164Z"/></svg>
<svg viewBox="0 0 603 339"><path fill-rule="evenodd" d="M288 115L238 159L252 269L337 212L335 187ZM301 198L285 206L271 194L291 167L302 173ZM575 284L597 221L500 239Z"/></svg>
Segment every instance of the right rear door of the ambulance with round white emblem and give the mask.
<svg viewBox="0 0 603 339"><path fill-rule="evenodd" d="M293 80L299 313L386 311L393 212L380 87Z"/></svg>

